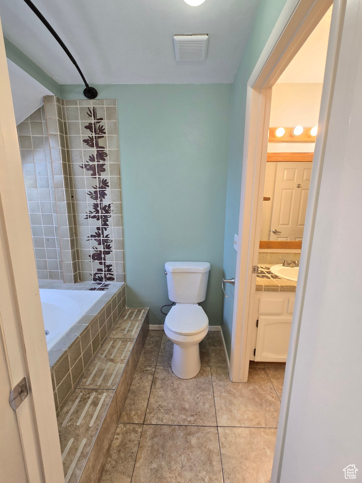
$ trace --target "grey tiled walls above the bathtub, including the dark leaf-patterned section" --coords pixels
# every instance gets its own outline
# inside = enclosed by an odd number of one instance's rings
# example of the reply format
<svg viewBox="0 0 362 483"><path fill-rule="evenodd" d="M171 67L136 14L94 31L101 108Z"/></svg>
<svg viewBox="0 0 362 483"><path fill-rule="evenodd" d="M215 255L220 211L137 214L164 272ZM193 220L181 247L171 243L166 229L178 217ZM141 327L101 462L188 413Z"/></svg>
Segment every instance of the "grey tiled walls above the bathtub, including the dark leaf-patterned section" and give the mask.
<svg viewBox="0 0 362 483"><path fill-rule="evenodd" d="M115 100L61 100L18 126L39 279L124 282Z"/></svg>

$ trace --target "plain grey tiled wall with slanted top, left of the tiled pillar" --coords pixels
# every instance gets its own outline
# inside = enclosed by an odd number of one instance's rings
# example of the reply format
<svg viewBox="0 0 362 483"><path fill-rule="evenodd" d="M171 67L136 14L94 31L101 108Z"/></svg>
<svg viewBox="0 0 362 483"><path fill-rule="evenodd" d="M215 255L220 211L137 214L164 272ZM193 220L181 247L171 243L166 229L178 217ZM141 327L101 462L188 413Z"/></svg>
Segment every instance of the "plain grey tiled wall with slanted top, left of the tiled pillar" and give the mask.
<svg viewBox="0 0 362 483"><path fill-rule="evenodd" d="M17 126L38 279L62 279L56 199L43 107Z"/></svg>

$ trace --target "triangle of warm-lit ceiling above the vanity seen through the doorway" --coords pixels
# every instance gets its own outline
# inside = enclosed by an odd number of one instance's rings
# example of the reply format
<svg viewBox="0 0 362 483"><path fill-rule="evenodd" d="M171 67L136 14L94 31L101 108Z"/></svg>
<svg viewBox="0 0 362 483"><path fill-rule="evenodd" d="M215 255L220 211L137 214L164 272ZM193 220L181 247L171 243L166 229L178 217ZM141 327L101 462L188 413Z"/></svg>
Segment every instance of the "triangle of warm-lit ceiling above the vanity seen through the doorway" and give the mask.
<svg viewBox="0 0 362 483"><path fill-rule="evenodd" d="M278 79L278 83L323 82L332 7Z"/></svg>

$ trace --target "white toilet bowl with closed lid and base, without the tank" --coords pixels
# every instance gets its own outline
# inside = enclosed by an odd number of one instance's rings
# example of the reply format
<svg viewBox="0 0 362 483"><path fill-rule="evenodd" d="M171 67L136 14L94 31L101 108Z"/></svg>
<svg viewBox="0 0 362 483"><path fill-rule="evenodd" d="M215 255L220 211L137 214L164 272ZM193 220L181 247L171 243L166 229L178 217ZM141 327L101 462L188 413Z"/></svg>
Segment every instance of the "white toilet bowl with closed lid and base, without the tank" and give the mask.
<svg viewBox="0 0 362 483"><path fill-rule="evenodd" d="M171 368L181 379L195 377L201 367L199 343L209 330L209 319L197 304L176 304L167 314L165 334L173 342Z"/></svg>

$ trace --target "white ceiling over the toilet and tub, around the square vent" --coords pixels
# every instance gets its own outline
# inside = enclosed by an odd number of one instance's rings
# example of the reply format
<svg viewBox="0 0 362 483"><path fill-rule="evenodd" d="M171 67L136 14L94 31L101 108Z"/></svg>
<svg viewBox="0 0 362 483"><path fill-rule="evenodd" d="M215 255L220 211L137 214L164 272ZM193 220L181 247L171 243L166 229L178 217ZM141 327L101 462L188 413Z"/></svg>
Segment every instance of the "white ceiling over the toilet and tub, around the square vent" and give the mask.
<svg viewBox="0 0 362 483"><path fill-rule="evenodd" d="M90 84L233 82L259 0L34 0ZM59 84L81 78L23 0L0 0L4 36ZM176 62L174 34L208 33L206 61Z"/></svg>

